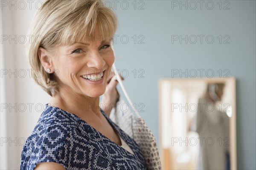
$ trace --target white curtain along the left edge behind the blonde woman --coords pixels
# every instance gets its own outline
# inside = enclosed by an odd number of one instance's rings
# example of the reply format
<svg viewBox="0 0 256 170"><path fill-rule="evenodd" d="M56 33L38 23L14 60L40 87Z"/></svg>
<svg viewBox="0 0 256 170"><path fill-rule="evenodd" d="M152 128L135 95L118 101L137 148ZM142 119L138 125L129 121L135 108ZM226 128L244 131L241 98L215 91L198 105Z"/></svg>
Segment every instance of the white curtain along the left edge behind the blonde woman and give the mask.
<svg viewBox="0 0 256 170"><path fill-rule="evenodd" d="M24 43L43 1L1 0L0 169L19 169L20 153L49 96L31 78Z"/></svg>

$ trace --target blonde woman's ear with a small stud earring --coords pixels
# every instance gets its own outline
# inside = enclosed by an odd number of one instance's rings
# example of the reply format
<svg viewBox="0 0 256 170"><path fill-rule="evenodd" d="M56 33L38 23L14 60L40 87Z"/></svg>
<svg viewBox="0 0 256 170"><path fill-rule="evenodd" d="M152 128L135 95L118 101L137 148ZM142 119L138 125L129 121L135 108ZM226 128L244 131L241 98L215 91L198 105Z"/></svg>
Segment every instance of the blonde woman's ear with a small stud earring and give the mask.
<svg viewBox="0 0 256 170"><path fill-rule="evenodd" d="M47 52L46 49L43 47L38 48L38 57L41 61L42 66L44 67L44 70L48 73L53 72L53 64L51 62L51 56L49 55L49 52Z"/></svg>

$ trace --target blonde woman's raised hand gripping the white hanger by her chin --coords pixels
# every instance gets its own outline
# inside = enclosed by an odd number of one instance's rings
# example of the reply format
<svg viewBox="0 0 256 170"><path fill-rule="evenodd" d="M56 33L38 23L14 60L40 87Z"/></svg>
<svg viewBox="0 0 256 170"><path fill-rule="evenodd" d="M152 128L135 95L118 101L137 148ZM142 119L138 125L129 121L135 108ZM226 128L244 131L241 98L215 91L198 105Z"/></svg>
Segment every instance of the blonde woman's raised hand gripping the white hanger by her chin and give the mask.
<svg viewBox="0 0 256 170"><path fill-rule="evenodd" d="M119 93L116 89L117 84L118 84L118 81L116 80L115 72L112 71L111 76L107 80L106 91L102 95L102 101L100 105L102 110L108 116L110 115L111 109L115 107L116 103L119 101Z"/></svg>

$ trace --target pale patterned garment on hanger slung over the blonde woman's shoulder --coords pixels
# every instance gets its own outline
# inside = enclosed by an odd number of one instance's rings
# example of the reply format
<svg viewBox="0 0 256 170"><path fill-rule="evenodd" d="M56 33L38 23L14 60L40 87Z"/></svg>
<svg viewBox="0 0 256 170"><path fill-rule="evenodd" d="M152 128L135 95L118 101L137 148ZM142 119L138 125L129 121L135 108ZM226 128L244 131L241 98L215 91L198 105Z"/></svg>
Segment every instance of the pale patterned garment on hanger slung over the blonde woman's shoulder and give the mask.
<svg viewBox="0 0 256 170"><path fill-rule="evenodd" d="M131 109L123 110L127 104L120 98L117 107L111 110L110 119L139 145L145 158L147 170L161 170L157 143L143 118L137 118Z"/></svg>

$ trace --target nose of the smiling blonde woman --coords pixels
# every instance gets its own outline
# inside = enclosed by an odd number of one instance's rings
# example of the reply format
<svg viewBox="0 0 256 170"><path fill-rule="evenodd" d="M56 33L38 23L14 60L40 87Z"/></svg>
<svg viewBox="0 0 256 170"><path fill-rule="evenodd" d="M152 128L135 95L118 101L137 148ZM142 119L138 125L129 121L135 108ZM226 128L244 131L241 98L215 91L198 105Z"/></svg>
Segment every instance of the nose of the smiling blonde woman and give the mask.
<svg viewBox="0 0 256 170"><path fill-rule="evenodd" d="M106 62L99 52L91 52L87 66L90 68L102 69Z"/></svg>

